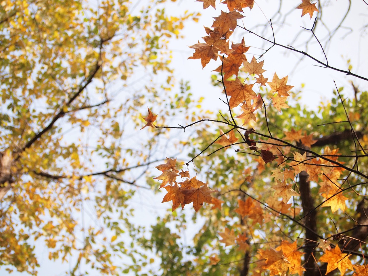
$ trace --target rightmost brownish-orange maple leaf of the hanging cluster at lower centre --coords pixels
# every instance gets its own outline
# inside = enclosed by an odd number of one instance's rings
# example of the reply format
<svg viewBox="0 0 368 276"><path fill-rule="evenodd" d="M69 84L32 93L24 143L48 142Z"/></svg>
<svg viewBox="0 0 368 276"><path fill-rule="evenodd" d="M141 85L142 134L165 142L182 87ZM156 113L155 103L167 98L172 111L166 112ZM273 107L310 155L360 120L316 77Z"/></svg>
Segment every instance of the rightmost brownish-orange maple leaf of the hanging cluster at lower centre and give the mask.
<svg viewBox="0 0 368 276"><path fill-rule="evenodd" d="M203 183L201 181L198 181L198 183L199 182ZM201 209L203 202L212 203L212 197L210 194L213 192L215 191L210 190L210 188L207 187L207 183L201 186L198 184L198 188L190 188L182 191L184 194L183 204L193 202L193 208L195 212L198 212L198 210Z"/></svg>

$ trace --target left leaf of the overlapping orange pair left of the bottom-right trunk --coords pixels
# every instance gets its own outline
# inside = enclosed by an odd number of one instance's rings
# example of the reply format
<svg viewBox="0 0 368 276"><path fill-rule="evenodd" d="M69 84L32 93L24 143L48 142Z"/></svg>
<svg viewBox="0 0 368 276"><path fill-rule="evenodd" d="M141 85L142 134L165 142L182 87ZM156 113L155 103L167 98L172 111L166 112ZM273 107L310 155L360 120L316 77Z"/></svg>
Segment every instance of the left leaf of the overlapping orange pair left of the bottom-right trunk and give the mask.
<svg viewBox="0 0 368 276"><path fill-rule="evenodd" d="M282 251L277 251L271 247L270 250L259 249L258 253L262 256L262 258L266 259L262 268L270 270L271 276L286 275L289 266Z"/></svg>

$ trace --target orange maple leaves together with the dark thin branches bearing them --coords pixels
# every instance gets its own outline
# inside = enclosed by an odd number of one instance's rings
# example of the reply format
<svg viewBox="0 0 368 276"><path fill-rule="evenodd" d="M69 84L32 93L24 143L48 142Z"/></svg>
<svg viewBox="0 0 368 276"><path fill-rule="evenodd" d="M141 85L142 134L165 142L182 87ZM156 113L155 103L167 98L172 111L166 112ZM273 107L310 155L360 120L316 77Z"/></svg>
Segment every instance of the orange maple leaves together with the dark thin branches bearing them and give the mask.
<svg viewBox="0 0 368 276"><path fill-rule="evenodd" d="M197 1L203 2L204 8L209 6L216 8L215 0ZM259 271L267 269L272 276L291 274L301 276L307 269L312 270L306 265L309 258L311 258L309 262L314 262L315 264L317 262L327 263L327 267L323 270L325 273L339 269L341 275L343 275L347 269L350 269L355 270L354 276L368 275L367 266L352 265L348 258L349 255L346 254L347 251L344 251L344 248L340 250L337 244L331 248L330 243L324 240L322 236L318 236L314 229L310 229L308 225L300 222L318 207L329 206L333 213L337 212L338 209L344 212L346 209L345 202L348 199L345 197L344 191L349 188L343 188L343 184L339 184L341 176L346 171L359 174L362 177L365 177L365 175L359 173L354 167L346 166L343 161L339 160L339 149L330 149L329 146L325 146L323 155L312 151L311 146L316 143L312 138L313 134L307 134L303 130L291 128L291 131L283 132L284 136L282 139L272 135L268 126L266 109L275 108L277 112L281 112L282 109L289 108L286 102L290 96L290 90L294 86L287 84L288 76L280 78L276 72L273 74L272 81L268 81L268 78L265 78L263 75L266 71L262 68L263 60L256 59L254 56L250 61L247 60L245 53L247 53L250 47L245 45L244 38L240 43L230 40L230 36L238 26L237 21L244 18L244 15L242 15L244 13L243 9L247 7L252 9L254 0L225 0L221 4L226 5L227 11L221 10L221 14L214 18L215 21L211 28L205 27L207 36L203 37L204 42L198 41L197 44L190 46L195 52L189 59L200 59L202 68L207 66L211 59L221 61L221 64L213 71L218 72L221 76L219 82L223 86L223 94L226 98L224 102L227 104L229 118L231 118L225 119L222 116L224 121L209 120L229 126L231 129L224 132L220 128L220 135L206 149L212 144L221 145L221 149L226 149L233 145L242 145L245 148L237 149L236 152L251 152L250 155L256 155L254 161L258 164L257 169L259 171L262 170L262 166L266 163L275 165L272 175L270 175L270 177L275 179L276 184L271 187L275 190L275 193L268 201L260 202L241 189L238 190L248 196L245 200L239 199L238 208L234 209L234 212L240 215L242 220L250 220L249 224L251 226L254 226L256 223L262 226L263 220L270 219L271 215L276 213L277 216L286 216L287 219L298 224L306 231L312 231L317 237L316 240L305 242L305 244L313 243L313 249L310 251L305 249L306 247L301 248L303 245L298 247L297 241L290 243L285 240L282 240L276 248L259 249L257 251L259 254L258 258L262 260L259 264ZM302 3L296 8L302 10L302 16L308 14L310 18L312 18L314 11L318 12L316 4L310 3L309 0L302 0ZM266 89L261 89L261 86L264 86ZM261 94L261 90L266 92ZM238 108L239 106L240 108ZM244 128L244 126L250 125L252 120L256 121L256 114L263 112L262 109L264 109L268 134L256 132L251 127ZM146 126L155 127L153 121L156 120L156 116L153 116L151 110L148 109L148 116L144 118L147 123L143 128ZM237 120L241 120L241 123L238 123ZM199 121L195 123L199 123ZM166 128L183 128L185 130L188 126L190 125ZM257 141L251 139L253 135L257 136ZM197 156L192 158L190 162ZM188 164L189 162L185 165L188 166ZM211 190L207 183L197 180L197 176L190 177L188 170L179 172L178 166L183 166L183 164L177 165L176 159L167 158L166 163L156 167L161 171L161 174L155 179L162 181L160 188L164 188L167 191L162 202L172 201L172 210L175 210L180 205L184 208L185 205L191 202L193 202L195 212L198 212L204 202L213 204L213 208L221 209L223 201L211 196L215 191ZM288 204L288 202L292 197L300 197L300 201L303 200L302 198L305 194L302 193L305 191L298 187L295 181L302 174L307 175L308 185L309 181L316 183L318 188L315 190L318 191L318 195L322 198L322 203L317 207L312 206L311 210L303 210L304 213L301 218L296 219L296 216L301 213L301 208L294 206L293 213L290 213L291 204ZM279 200L280 198L281 200ZM225 243L226 246L237 245L242 250L247 250L247 235L234 233L234 229L226 229L219 234L222 237L220 242ZM323 251L318 261L315 255L313 255L316 248L321 248ZM301 264L301 257L304 254L306 254L305 256L309 254L308 260L304 259L305 266ZM212 257L210 260L213 264L219 262L217 257ZM358 274L361 271L364 271L363 273L366 274Z"/></svg>

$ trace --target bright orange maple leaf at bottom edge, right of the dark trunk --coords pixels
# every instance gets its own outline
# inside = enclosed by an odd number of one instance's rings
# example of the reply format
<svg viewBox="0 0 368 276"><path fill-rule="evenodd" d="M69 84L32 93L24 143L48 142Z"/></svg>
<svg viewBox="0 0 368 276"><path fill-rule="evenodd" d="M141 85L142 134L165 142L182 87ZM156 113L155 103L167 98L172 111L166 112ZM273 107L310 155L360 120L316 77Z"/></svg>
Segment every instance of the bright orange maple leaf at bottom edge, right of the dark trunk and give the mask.
<svg viewBox="0 0 368 276"><path fill-rule="evenodd" d="M327 263L326 274L338 268L341 276L344 275L346 269L354 270L351 261L347 254L341 253L339 245L331 250L326 250L326 253L319 258L319 261Z"/></svg>

